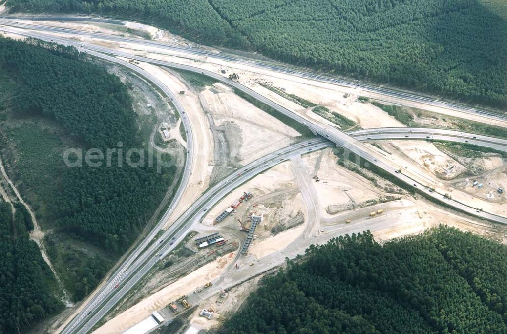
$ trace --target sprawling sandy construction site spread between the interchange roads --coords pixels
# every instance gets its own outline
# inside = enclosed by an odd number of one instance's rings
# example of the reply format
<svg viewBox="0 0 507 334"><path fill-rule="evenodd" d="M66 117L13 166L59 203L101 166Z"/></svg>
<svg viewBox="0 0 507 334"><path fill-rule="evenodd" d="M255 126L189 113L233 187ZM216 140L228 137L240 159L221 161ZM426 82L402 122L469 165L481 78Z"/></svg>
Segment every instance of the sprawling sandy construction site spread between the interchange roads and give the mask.
<svg viewBox="0 0 507 334"><path fill-rule="evenodd" d="M58 27L73 24L77 23L55 23ZM187 48L194 46L168 31L161 33L152 28L142 27L156 40L173 41ZM86 29L114 31L111 26L100 24L88 25ZM95 42L87 37L79 39L83 43ZM313 106L324 106L339 113L354 122L354 129L405 126L378 106L358 100L363 95L381 97L383 103L404 103L404 107L412 109L425 107L428 113L446 117L463 117L438 106L295 79L286 73L259 70L244 63L234 67L225 60L206 61L200 55L182 57L176 51L162 52L156 47L110 44L115 50L132 55L220 73L293 110L305 122L321 126L336 128L336 124L314 113ZM130 64L170 87L185 109L185 114L178 117L164 116L157 111L161 109L160 101L139 100L139 108L147 115L160 115L153 129L153 143L165 151L177 148L182 155L187 140L185 131L180 129L183 129L182 120L188 119L195 135L194 147L198 147L187 152L194 159L192 172L177 207L163 226L164 231L215 184L227 187L227 181L223 180L231 173L239 177L247 171L247 164L310 140L223 83L191 84L183 72L148 62ZM310 102L312 107L301 100ZM479 116L470 119L482 120ZM424 113L416 120L428 126L442 121ZM452 126L451 122L447 123ZM494 125L500 123L492 121ZM162 138L161 142L156 140L156 135ZM173 146L163 147L163 143ZM257 288L259 279L283 268L285 258L294 259L311 244L323 244L344 234L370 230L382 244L445 224L507 244L505 229L460 212L449 212L407 187L402 188L364 166L345 161L337 155L336 145L319 150L312 149L315 143L311 141L307 145L304 153L276 158L276 163L269 167L264 164L262 172L227 189L212 205L199 207L196 211L201 215L189 219L188 232L171 240L170 252L164 256L157 253L156 265L108 313L96 332L127 330L152 317L154 312L159 312L166 322L185 318L194 332L210 329L240 307L246 296ZM423 184L425 190L445 194L477 210L507 216L507 161L498 153L474 151L470 154L462 147L412 138L370 140L364 145L397 166L396 173Z"/></svg>

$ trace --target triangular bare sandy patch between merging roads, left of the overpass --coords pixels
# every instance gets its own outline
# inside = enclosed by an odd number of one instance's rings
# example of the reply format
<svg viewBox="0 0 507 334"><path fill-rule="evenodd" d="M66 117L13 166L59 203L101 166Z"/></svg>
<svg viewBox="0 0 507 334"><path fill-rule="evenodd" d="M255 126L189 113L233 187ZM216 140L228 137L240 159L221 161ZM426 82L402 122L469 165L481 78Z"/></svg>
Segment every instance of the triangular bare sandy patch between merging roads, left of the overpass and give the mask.
<svg viewBox="0 0 507 334"><path fill-rule="evenodd" d="M227 127L232 122L239 127L237 135L240 136L240 142L229 145L231 159L243 165L288 146L294 142L292 137L300 136L299 132L246 102L223 84L214 84L201 95L201 101L210 110L215 126ZM233 150L236 146L239 146L239 150Z"/></svg>

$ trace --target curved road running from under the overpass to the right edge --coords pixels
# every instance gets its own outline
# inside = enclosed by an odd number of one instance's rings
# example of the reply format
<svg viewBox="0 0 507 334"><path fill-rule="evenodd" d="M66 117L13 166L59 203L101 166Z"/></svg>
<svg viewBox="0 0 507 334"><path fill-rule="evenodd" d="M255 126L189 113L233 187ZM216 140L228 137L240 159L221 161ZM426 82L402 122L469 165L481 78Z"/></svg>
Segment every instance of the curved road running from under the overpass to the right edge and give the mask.
<svg viewBox="0 0 507 334"><path fill-rule="evenodd" d="M375 128L351 131L348 133L360 141L379 139L426 139L445 140L490 147L507 151L507 140L469 132L435 128Z"/></svg>

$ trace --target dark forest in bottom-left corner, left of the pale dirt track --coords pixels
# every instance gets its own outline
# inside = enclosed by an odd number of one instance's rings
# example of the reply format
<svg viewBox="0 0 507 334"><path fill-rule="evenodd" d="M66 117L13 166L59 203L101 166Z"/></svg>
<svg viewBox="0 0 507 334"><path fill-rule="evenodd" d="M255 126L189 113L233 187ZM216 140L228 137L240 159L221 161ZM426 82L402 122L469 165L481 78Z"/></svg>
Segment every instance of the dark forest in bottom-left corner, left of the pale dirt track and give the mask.
<svg viewBox="0 0 507 334"><path fill-rule="evenodd" d="M35 242L28 239L24 213L0 197L0 333L19 333L63 308L56 280Z"/></svg>

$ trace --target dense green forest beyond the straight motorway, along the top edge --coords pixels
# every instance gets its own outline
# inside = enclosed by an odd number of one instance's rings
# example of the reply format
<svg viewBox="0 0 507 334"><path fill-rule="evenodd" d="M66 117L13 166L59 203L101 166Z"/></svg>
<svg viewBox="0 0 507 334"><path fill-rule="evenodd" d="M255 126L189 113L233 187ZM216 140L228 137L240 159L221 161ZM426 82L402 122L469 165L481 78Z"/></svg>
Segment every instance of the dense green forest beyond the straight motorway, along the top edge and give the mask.
<svg viewBox="0 0 507 334"><path fill-rule="evenodd" d="M503 0L10 0L8 6L130 17L205 44L507 105Z"/></svg>

